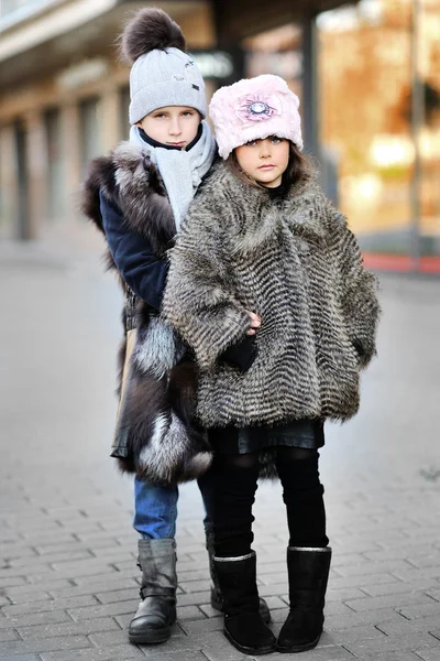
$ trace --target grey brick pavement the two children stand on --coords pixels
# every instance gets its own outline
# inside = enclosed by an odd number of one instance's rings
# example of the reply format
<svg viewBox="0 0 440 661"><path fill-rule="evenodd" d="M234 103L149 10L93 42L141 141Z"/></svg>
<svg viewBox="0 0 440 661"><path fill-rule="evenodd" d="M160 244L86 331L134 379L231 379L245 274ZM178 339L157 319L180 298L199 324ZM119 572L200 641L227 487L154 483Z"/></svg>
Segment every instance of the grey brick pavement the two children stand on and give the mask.
<svg viewBox="0 0 440 661"><path fill-rule="evenodd" d="M361 412L329 424L321 452L333 563L326 630L305 661L440 661L440 280L386 274L381 300ZM128 642L140 579L132 484L108 458L120 306L96 250L0 248L0 661L250 659L209 606L195 484L180 492L174 636ZM261 485L255 517L260 594L277 631L277 484Z"/></svg>

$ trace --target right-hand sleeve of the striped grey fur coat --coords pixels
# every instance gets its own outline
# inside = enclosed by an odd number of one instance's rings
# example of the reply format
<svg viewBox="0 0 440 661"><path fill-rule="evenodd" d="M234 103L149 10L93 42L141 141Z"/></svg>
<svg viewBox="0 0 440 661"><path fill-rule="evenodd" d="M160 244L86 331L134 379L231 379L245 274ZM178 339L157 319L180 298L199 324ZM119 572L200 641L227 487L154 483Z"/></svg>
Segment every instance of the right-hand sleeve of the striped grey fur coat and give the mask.
<svg viewBox="0 0 440 661"><path fill-rule="evenodd" d="M337 268L338 300L349 337L365 368L376 354L380 318L377 279L366 271L353 232L345 217L330 208L329 247Z"/></svg>

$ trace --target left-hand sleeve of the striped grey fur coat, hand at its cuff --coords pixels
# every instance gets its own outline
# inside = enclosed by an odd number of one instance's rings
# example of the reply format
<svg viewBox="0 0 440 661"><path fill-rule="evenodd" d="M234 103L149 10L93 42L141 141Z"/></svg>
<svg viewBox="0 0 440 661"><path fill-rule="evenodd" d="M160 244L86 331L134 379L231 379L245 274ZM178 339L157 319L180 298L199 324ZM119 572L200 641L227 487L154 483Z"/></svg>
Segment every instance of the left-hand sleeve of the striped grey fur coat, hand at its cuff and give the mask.
<svg viewBox="0 0 440 661"><path fill-rule="evenodd" d="M206 196L197 197L170 253L163 300L164 317L194 349L204 370L212 370L223 351L250 328L244 306L229 279L224 232Z"/></svg>

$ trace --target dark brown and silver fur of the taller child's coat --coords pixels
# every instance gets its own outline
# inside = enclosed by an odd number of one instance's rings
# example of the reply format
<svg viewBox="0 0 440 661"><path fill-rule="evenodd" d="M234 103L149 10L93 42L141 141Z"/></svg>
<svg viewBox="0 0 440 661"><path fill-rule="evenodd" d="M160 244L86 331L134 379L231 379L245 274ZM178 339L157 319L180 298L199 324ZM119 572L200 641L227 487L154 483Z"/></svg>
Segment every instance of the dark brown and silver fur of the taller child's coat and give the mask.
<svg viewBox="0 0 440 661"><path fill-rule="evenodd" d="M128 231L143 237L158 258L167 259L176 234L174 217L158 171L141 145L122 142L90 165L81 207L105 235L100 195L121 210ZM117 269L110 252L108 263ZM111 456L123 472L155 484L194 479L211 462L205 433L194 421L194 357L169 325L134 296L122 278L120 282L125 292L125 333L119 355L121 399ZM128 353L133 330L134 347Z"/></svg>

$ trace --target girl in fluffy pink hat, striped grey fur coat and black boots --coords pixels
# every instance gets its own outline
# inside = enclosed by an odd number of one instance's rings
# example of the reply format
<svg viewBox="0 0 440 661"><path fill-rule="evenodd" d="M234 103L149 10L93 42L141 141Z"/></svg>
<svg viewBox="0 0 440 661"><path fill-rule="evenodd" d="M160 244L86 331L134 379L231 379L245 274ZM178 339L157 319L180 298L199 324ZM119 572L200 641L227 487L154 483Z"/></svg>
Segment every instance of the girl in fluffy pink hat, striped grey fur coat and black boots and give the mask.
<svg viewBox="0 0 440 661"><path fill-rule="evenodd" d="M190 206L163 303L199 367L224 633L249 654L319 641L331 549L318 449L326 419L358 411L378 317L375 278L300 153L298 106L272 75L215 94L223 162ZM251 549L261 460L282 480L289 528L290 611L277 642L258 614Z"/></svg>

